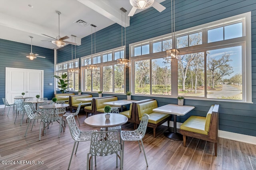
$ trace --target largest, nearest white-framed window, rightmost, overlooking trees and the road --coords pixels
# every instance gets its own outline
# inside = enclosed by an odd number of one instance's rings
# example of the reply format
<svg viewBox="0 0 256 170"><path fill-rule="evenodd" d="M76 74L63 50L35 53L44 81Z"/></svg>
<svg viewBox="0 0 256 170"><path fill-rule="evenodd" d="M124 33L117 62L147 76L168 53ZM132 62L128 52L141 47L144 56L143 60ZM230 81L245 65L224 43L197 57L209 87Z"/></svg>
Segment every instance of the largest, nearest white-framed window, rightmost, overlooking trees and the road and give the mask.
<svg viewBox="0 0 256 170"><path fill-rule="evenodd" d="M246 13L130 44L132 92L251 102L250 30ZM180 59L166 60L175 47Z"/></svg>

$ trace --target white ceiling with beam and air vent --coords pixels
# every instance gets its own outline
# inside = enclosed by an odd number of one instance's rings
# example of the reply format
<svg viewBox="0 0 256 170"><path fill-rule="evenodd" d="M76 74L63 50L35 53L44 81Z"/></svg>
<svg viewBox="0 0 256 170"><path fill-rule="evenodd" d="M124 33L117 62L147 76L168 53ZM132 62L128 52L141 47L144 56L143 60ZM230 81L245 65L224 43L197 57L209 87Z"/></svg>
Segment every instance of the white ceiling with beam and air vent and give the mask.
<svg viewBox="0 0 256 170"><path fill-rule="evenodd" d="M90 24L97 26L96 31L114 23L121 25L122 7L127 10L126 26L129 26L130 17L127 15L132 9L129 0L0 0L0 4L0 39L31 44L29 36L33 36L33 45L50 49L57 47L49 41L42 41L51 40L42 34L54 38L58 36L56 10L62 13L60 36L69 36L66 41L72 42L71 35L75 35L76 43L80 45L81 38L91 34ZM88 25L82 27L74 23L77 20L83 20Z"/></svg>

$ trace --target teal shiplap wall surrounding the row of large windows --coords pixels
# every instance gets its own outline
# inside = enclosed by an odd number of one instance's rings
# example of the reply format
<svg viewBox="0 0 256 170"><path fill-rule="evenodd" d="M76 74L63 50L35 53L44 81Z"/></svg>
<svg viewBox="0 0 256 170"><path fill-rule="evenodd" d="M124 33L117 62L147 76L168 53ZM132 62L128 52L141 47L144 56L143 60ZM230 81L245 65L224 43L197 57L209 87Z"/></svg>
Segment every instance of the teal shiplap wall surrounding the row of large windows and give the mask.
<svg viewBox="0 0 256 170"><path fill-rule="evenodd" d="M129 44L149 38L154 38L171 32L170 0L161 3L166 10L159 13L154 8L144 10L130 18L130 26L126 28L126 57L129 56ZM236 102L216 102L185 99L185 105L193 105L195 109L178 122L183 123L190 115L205 116L210 105L220 104L220 130L256 136L256 1L255 0L175 0L175 29L198 26L230 16L250 12L252 14L252 101L254 104ZM92 23L93 24L93 23ZM121 27L113 24L96 32L96 53L121 46ZM93 36L94 37L94 36ZM93 42L94 43L94 42ZM66 46L57 51L57 62L71 59L66 52L71 47ZM91 36L82 39L82 45L77 47L76 57L91 53ZM71 53L70 53L71 54ZM126 91L129 89L129 74L126 72ZM104 96L104 94L103 94ZM125 99L124 95L117 95ZM132 99L142 100L150 96L132 96ZM177 99L154 97L158 106L177 103Z"/></svg>

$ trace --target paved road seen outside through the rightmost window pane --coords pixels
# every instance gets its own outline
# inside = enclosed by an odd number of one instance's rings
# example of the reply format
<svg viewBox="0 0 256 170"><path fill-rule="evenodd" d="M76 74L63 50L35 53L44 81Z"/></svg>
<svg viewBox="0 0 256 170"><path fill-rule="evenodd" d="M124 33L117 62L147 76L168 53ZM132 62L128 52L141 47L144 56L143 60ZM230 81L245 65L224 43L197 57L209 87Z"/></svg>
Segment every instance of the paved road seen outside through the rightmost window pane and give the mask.
<svg viewBox="0 0 256 170"><path fill-rule="evenodd" d="M232 85L226 85L224 84L222 86L221 91L208 91L212 94L207 95L208 98L221 98L222 96L228 97L228 96L234 96L241 93L241 90L237 89L236 87L233 87Z"/></svg>

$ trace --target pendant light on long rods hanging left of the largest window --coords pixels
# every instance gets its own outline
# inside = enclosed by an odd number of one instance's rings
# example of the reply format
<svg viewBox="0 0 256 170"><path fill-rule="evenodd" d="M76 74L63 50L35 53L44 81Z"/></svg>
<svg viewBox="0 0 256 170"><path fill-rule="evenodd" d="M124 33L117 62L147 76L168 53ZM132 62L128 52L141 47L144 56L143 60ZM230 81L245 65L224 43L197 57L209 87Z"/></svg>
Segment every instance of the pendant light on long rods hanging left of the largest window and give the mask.
<svg viewBox="0 0 256 170"><path fill-rule="evenodd" d="M120 8L121 12L122 12L122 26L121 26L121 36L122 36L122 53L126 48L126 24L124 26L124 50L123 50L123 12L124 12L124 17L125 17L125 23L126 23L126 12L127 10L124 8ZM122 67L131 67L131 61L129 59L125 59L125 58L120 58L116 60L116 65L118 66L122 66Z"/></svg>

